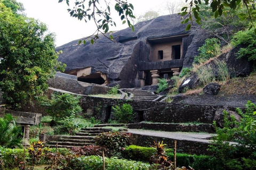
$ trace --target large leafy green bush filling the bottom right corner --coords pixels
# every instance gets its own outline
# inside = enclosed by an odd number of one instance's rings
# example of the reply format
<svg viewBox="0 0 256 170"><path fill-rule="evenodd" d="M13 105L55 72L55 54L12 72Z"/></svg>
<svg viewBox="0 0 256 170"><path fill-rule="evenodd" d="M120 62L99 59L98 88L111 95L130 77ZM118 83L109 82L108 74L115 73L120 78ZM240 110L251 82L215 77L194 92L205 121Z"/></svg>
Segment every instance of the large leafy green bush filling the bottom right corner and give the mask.
<svg viewBox="0 0 256 170"><path fill-rule="evenodd" d="M255 168L256 106L248 101L245 113L241 109L237 109L237 112L242 116L239 122L234 116L229 118L228 113L223 111L223 129L218 128L214 122L217 136L213 138L214 145L210 150L222 164L220 169Z"/></svg>

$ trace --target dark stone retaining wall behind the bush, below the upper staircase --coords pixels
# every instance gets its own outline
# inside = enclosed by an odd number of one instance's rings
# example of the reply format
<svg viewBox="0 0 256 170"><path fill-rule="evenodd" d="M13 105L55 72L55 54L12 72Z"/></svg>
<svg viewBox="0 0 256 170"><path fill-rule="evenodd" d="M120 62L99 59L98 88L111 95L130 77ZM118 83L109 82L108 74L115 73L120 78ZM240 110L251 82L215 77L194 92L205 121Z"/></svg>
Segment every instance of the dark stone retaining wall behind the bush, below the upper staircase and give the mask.
<svg viewBox="0 0 256 170"><path fill-rule="evenodd" d="M212 123L217 109L223 106L211 105L185 105L155 101L133 101L82 96L81 107L85 117L95 117L102 122L107 122L111 117L111 106L128 103L137 112L135 122L162 122L162 123L187 123L200 122ZM234 111L235 108L225 109Z"/></svg>

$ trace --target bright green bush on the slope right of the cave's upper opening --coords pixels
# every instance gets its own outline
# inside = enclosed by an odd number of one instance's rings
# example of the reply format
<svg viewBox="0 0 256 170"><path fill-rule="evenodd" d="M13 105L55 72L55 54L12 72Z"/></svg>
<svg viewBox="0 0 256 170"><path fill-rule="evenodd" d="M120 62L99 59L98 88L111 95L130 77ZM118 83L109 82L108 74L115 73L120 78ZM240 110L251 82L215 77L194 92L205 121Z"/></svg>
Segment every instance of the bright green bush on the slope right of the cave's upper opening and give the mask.
<svg viewBox="0 0 256 170"><path fill-rule="evenodd" d="M202 47L198 48L199 56L195 56L194 63L203 63L220 53L220 41L216 38L207 38Z"/></svg>

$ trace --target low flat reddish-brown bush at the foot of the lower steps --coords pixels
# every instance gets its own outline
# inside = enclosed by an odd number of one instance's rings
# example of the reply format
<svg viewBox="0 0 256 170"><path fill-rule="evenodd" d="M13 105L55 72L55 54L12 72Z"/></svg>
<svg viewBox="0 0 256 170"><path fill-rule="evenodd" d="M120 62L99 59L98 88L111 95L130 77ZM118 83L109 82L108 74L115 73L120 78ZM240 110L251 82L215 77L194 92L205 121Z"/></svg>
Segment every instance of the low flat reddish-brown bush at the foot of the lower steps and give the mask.
<svg viewBox="0 0 256 170"><path fill-rule="evenodd" d="M91 156L91 155L102 155L104 151L104 155L108 157L110 155L109 150L106 147L101 147L97 145L88 145L81 147L72 148L72 152L78 155Z"/></svg>

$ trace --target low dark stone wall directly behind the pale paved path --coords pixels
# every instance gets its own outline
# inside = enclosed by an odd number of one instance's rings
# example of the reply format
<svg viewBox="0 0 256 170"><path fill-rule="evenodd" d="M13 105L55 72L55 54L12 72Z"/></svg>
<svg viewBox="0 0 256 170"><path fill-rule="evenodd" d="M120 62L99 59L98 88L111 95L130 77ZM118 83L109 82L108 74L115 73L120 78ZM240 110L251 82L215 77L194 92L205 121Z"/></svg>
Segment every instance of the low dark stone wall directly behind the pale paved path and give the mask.
<svg viewBox="0 0 256 170"><path fill-rule="evenodd" d="M161 130L166 132L207 132L214 133L211 124L166 124L166 123L134 123L128 124L130 129Z"/></svg>

